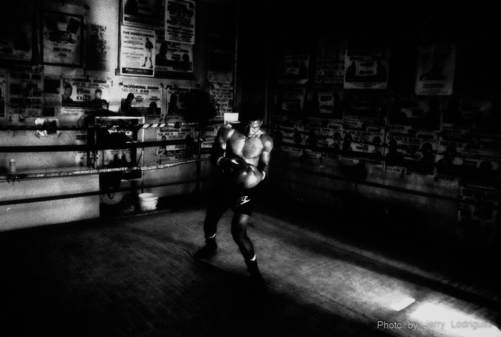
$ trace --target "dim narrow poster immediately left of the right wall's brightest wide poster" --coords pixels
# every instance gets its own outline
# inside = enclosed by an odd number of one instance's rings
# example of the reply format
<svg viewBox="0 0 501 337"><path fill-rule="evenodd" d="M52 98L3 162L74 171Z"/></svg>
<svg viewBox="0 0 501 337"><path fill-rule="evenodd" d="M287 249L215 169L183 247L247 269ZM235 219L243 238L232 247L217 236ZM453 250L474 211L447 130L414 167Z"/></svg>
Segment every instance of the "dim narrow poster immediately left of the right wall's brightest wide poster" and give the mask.
<svg viewBox="0 0 501 337"><path fill-rule="evenodd" d="M343 83L345 73L346 39L324 37L318 41L317 83Z"/></svg>

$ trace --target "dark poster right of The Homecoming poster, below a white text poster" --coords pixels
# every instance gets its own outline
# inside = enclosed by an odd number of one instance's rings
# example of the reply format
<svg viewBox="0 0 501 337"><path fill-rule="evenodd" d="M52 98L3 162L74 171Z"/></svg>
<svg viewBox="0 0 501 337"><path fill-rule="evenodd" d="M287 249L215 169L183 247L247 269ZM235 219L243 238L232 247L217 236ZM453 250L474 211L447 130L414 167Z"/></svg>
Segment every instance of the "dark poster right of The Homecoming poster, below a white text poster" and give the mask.
<svg viewBox="0 0 501 337"><path fill-rule="evenodd" d="M155 39L155 73L193 72L193 45L164 40L157 34Z"/></svg>

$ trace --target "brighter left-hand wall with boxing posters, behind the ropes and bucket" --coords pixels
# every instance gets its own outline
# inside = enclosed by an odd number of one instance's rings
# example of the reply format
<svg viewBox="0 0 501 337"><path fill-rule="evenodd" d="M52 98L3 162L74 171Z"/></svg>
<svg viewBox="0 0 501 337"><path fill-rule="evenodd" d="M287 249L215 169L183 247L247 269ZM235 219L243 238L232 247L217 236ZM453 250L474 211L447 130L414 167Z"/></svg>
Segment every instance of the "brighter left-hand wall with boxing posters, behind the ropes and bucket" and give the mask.
<svg viewBox="0 0 501 337"><path fill-rule="evenodd" d="M139 2L22 0L6 5L0 24L0 126L4 127L0 131L0 146L81 145L88 141L85 130L22 130L37 123L84 127L92 124L96 116L137 116L144 118L145 124L182 124L186 121L187 97L198 91L216 97L222 112L232 111L234 43L231 41L235 39L235 29L221 33L207 20L207 17L227 19L230 26L235 16L232 2ZM228 13L232 13L229 19ZM230 42L221 46L212 42L211 34ZM230 57L209 62L207 50ZM222 122L222 112L213 118L214 122ZM14 127L18 129L13 130ZM144 141L190 140L214 135L216 128L217 124L202 130L195 126L149 127L142 136ZM144 152L138 152L138 158L140 155L143 165L194 158L193 143L187 142L188 145L145 148ZM125 155L125 160L130 161L127 158ZM82 151L4 152L0 153L0 175L5 177L9 173L11 159L21 174L99 166L94 162L95 157ZM208 167L202 162L202 176ZM190 180L195 172L195 164L148 170L136 183L148 186ZM25 198L60 193L59 185L49 178L35 181L38 180L21 179L14 185L7 179L0 181L3 185L0 200L10 200L12 195ZM98 174L85 175L78 181L85 184L86 190L99 190ZM131 183L123 180L121 187L127 188ZM30 188L32 184L37 187ZM79 191L78 184L68 185L75 187L72 192ZM161 197L191 193L194 188L195 184L189 183L145 191ZM207 185L202 183L201 188ZM13 189L17 190L15 194ZM71 212L68 211L71 202L61 202L61 206L53 202L53 213L74 214L74 217L58 220L52 216L46 223L99 216L100 203L118 203L127 194L78 198L79 211L71 209ZM0 221L0 230L45 224L30 223L29 212L27 216L20 215L27 207L40 205L11 207L12 215Z"/></svg>

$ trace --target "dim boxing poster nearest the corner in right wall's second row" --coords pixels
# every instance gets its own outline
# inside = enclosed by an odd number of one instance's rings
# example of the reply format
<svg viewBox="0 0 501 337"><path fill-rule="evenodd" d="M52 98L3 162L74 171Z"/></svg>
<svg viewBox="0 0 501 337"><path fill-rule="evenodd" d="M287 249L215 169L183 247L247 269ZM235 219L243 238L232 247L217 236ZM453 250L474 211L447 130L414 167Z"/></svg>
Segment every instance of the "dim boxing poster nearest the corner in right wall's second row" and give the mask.
<svg viewBox="0 0 501 337"><path fill-rule="evenodd" d="M306 88L304 86L278 86L275 88L273 116L275 119L303 119Z"/></svg>

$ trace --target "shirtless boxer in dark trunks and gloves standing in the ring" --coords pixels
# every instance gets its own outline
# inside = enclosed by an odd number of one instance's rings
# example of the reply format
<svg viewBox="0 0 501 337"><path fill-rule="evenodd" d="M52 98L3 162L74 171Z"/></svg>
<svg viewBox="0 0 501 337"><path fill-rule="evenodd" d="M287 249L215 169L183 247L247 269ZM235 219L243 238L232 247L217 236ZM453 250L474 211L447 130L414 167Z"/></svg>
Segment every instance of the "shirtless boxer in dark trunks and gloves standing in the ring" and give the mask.
<svg viewBox="0 0 501 337"><path fill-rule="evenodd" d="M245 111L248 110L248 111ZM210 162L221 168L215 195L209 201L203 229L205 246L193 256L203 258L215 253L217 222L232 207L231 234L247 264L250 278L257 285L264 279L258 269L254 245L247 236L247 222L257 197L259 183L268 171L273 139L261 129L263 117L254 105L243 107L244 121L225 125L217 133Z"/></svg>

